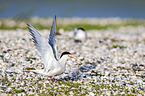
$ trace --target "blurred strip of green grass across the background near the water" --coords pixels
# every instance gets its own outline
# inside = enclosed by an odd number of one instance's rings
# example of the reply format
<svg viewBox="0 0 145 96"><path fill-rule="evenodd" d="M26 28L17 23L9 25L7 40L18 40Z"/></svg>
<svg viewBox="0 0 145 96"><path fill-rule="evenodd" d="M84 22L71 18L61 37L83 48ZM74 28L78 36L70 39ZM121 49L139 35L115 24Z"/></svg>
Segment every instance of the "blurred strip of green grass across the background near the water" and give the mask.
<svg viewBox="0 0 145 96"><path fill-rule="evenodd" d="M49 23L47 23L47 21ZM51 20L52 21L52 20ZM1 30L16 30L16 29L27 29L27 23L34 26L37 30L44 30L51 28L51 21L48 19L38 19L38 20L31 20L31 19L1 19L0 20L0 29ZM44 23L43 23L44 22ZM71 31L74 30L74 27L83 27L85 30L106 30L106 29L118 29L120 27L126 27L126 26L145 26L145 20L136 20L136 19L130 19L130 20L122 20L121 22L117 23L105 23L102 24L100 21L97 23L88 23L88 22L76 22L76 23L62 23L66 21L59 21L57 22L57 30L64 29L65 31ZM113 21L115 22L115 21Z"/></svg>

